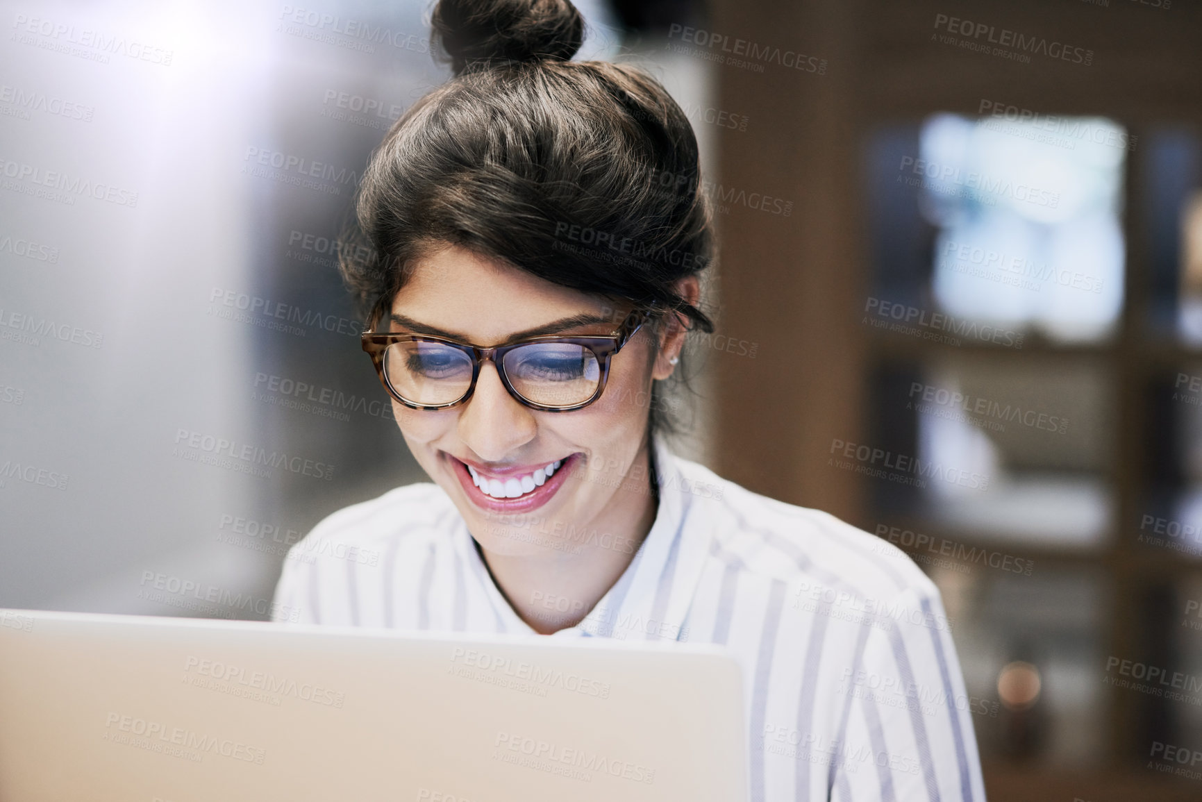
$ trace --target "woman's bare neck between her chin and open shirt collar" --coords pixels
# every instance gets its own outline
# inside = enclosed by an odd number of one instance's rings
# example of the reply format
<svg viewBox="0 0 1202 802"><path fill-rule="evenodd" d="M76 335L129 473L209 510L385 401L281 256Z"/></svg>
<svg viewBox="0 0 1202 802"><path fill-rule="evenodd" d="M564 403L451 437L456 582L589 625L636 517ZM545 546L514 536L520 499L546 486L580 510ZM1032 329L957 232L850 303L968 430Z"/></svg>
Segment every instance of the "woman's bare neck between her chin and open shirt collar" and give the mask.
<svg viewBox="0 0 1202 802"><path fill-rule="evenodd" d="M493 582L522 620L540 635L584 620L635 559L659 511L657 486L649 464L649 448L644 445L631 469L636 476L647 476L649 486L633 492L619 485L613 500L585 522L585 531L614 535L605 546L597 539L573 545L571 549L546 548L537 554L513 556L498 554L477 543Z"/></svg>

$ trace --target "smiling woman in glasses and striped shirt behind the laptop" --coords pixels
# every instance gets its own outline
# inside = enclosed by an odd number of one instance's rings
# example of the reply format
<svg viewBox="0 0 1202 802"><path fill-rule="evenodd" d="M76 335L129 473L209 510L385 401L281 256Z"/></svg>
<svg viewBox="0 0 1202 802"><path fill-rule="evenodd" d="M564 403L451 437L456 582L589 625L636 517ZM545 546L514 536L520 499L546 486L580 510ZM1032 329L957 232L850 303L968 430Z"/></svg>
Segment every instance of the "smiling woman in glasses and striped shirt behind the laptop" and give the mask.
<svg viewBox="0 0 1202 802"><path fill-rule="evenodd" d="M570 61L566 0L444 0L433 28L456 77L374 154L357 212L379 259L343 265L433 483L322 521L279 605L323 624L724 643L748 677L752 798L983 800L934 584L665 445L662 385L688 332L713 331L680 108L636 69Z"/></svg>

